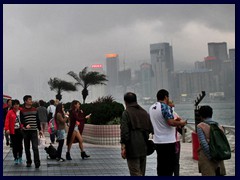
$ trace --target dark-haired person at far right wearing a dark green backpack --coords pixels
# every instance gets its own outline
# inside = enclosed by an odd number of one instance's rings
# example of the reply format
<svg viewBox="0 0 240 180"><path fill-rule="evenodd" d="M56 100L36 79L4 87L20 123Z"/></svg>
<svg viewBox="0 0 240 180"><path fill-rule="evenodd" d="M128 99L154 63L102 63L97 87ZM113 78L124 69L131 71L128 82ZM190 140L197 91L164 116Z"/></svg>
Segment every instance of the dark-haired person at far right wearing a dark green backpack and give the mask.
<svg viewBox="0 0 240 180"><path fill-rule="evenodd" d="M197 125L197 134L200 142L198 149L198 169L202 176L224 176L226 169L224 161L216 161L211 158L209 150L210 126L209 124L218 124L212 119L213 110L210 106L201 106L199 115L201 123ZM222 126L218 125L224 132Z"/></svg>

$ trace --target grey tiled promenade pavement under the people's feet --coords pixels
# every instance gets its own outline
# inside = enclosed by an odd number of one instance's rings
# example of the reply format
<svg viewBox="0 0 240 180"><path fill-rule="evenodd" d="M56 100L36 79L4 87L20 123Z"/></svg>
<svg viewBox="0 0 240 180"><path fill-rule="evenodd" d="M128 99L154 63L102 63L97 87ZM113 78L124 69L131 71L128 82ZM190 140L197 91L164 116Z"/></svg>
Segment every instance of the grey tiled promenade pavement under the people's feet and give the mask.
<svg viewBox="0 0 240 180"><path fill-rule="evenodd" d="M197 161L192 158L192 144L181 144L180 175L200 176ZM57 144L54 145L55 147ZM44 146L39 146L41 166L35 169L25 166L25 153L23 164L14 165L13 155L9 146L3 142L3 176L129 176L126 160L120 155L120 146L100 146L84 144L90 158L82 160L77 144L71 149L72 161L57 162L48 160ZM32 152L32 151L31 151ZM63 148L65 157L66 146ZM235 153L232 158L225 161L228 176L235 176ZM147 158L146 176L156 176L156 152Z"/></svg>

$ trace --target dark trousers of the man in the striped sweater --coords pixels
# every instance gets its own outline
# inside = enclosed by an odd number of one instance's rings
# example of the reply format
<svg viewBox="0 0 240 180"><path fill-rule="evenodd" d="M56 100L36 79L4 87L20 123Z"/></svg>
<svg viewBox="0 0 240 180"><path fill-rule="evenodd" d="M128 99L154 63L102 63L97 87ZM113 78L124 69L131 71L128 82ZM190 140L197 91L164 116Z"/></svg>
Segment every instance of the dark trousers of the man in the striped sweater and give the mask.
<svg viewBox="0 0 240 180"><path fill-rule="evenodd" d="M25 153L27 158L27 164L32 164L30 142L32 143L34 164L40 164L39 151L38 151L38 132L37 130L24 130L23 134Z"/></svg>

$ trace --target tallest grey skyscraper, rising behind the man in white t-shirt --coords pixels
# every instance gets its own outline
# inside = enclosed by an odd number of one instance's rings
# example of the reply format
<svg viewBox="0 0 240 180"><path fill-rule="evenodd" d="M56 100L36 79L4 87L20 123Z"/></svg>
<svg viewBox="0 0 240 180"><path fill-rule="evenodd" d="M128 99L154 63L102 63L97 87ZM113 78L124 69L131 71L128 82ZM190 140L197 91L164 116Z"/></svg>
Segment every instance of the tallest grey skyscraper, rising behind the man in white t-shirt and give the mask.
<svg viewBox="0 0 240 180"><path fill-rule="evenodd" d="M153 68L153 89L173 91L173 52L169 43L150 44L151 64ZM156 94L156 93L155 93Z"/></svg>

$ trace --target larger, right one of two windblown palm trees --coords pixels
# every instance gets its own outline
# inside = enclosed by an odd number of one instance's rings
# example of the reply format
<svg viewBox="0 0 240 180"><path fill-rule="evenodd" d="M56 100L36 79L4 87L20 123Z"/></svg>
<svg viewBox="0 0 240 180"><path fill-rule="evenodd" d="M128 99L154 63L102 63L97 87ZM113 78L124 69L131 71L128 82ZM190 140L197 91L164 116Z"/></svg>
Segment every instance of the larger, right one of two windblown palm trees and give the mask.
<svg viewBox="0 0 240 180"><path fill-rule="evenodd" d="M80 71L78 75L73 71L70 71L67 74L72 76L77 81L75 85L80 85L83 87L83 90L82 90L83 104L85 103L85 100L88 96L87 88L89 86L98 85L98 84L106 85L104 82L108 81L106 79L105 74L101 74L96 71L87 72L87 67L83 68L83 70Z"/></svg>

